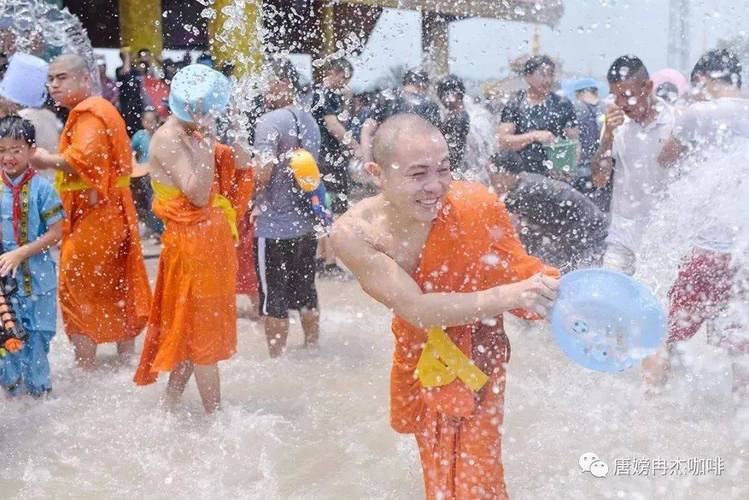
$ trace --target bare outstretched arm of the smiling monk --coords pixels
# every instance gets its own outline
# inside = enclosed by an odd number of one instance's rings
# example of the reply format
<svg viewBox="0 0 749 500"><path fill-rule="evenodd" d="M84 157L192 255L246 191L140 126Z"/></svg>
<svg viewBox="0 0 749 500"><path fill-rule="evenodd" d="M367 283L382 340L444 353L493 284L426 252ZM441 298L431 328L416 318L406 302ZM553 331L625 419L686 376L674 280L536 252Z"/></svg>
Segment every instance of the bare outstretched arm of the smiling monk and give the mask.
<svg viewBox="0 0 749 500"><path fill-rule="evenodd" d="M336 256L362 289L396 315L420 328L459 326L492 318L517 307L548 312L543 278L471 293L424 293L393 259L364 241L350 226L336 223L331 233ZM550 292L551 294L551 292Z"/></svg>

